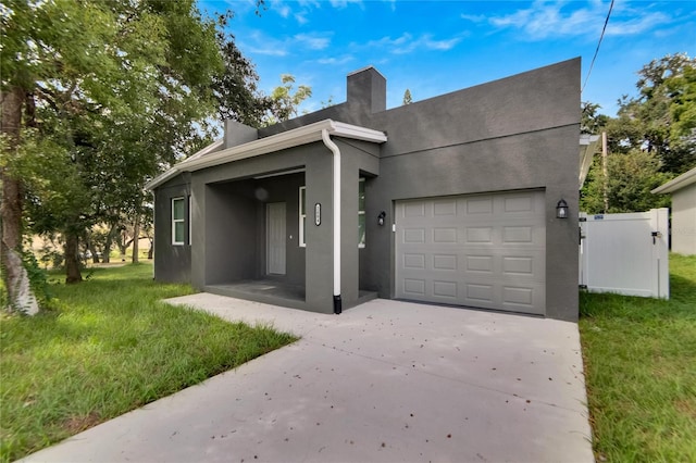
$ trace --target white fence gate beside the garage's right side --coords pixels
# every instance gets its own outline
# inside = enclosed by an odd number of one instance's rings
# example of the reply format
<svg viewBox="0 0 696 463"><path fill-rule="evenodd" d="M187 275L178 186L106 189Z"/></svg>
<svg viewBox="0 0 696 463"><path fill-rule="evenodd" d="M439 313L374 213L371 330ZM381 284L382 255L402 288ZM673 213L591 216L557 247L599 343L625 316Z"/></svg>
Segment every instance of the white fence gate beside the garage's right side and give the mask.
<svg viewBox="0 0 696 463"><path fill-rule="evenodd" d="M596 292L670 296L667 208L580 213L580 285Z"/></svg>

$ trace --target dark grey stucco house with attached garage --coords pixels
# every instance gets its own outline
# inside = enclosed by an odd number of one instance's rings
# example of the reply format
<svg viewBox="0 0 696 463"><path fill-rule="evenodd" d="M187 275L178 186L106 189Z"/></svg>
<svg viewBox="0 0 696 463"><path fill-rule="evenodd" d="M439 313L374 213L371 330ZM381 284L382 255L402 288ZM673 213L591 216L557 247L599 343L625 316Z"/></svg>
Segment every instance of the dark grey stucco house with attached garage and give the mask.
<svg viewBox="0 0 696 463"><path fill-rule="evenodd" d="M580 72L387 110L366 67L344 103L228 121L148 185L154 277L325 313L380 297L576 321Z"/></svg>

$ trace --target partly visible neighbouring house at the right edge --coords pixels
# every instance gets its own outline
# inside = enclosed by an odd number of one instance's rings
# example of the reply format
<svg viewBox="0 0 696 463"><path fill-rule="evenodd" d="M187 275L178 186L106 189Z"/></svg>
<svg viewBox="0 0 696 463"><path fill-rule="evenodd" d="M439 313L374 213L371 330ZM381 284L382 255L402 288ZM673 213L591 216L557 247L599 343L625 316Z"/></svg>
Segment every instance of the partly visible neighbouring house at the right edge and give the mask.
<svg viewBox="0 0 696 463"><path fill-rule="evenodd" d="M654 189L652 193L672 195L672 251L696 255L696 167Z"/></svg>

